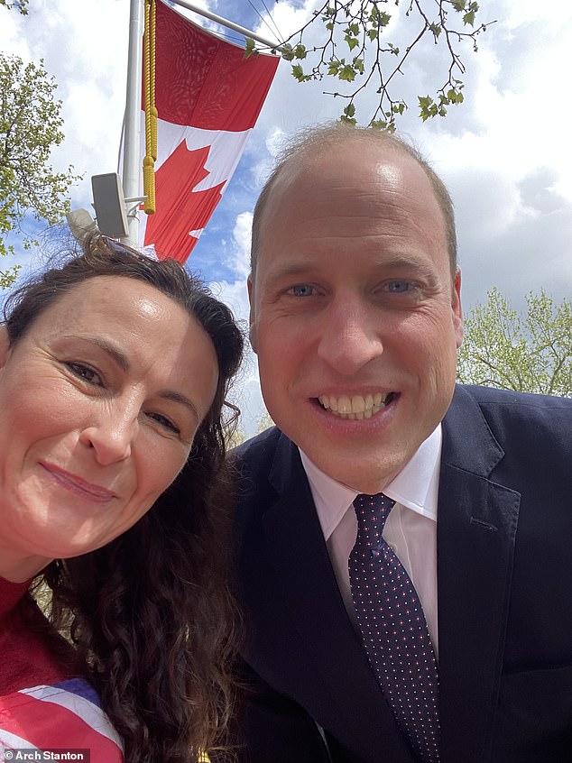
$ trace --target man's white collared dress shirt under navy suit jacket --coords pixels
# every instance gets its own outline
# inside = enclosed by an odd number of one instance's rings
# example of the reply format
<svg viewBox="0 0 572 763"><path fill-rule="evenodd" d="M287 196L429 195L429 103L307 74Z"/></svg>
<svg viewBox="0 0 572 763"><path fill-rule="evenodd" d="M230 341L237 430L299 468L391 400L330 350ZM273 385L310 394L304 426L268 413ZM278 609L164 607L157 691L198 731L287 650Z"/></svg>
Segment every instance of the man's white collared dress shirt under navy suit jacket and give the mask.
<svg viewBox="0 0 572 763"><path fill-rule="evenodd" d="M439 424L421 443L411 461L383 491L395 501L395 506L385 522L383 538L392 547L411 577L420 597L436 655L437 501L441 443L442 432ZM355 629L359 631L347 569L347 560L357 536L353 503L358 492L345 484L337 483L328 477L328 474L321 472L302 451L300 456L308 476L337 585L346 604L347 613Z"/></svg>

